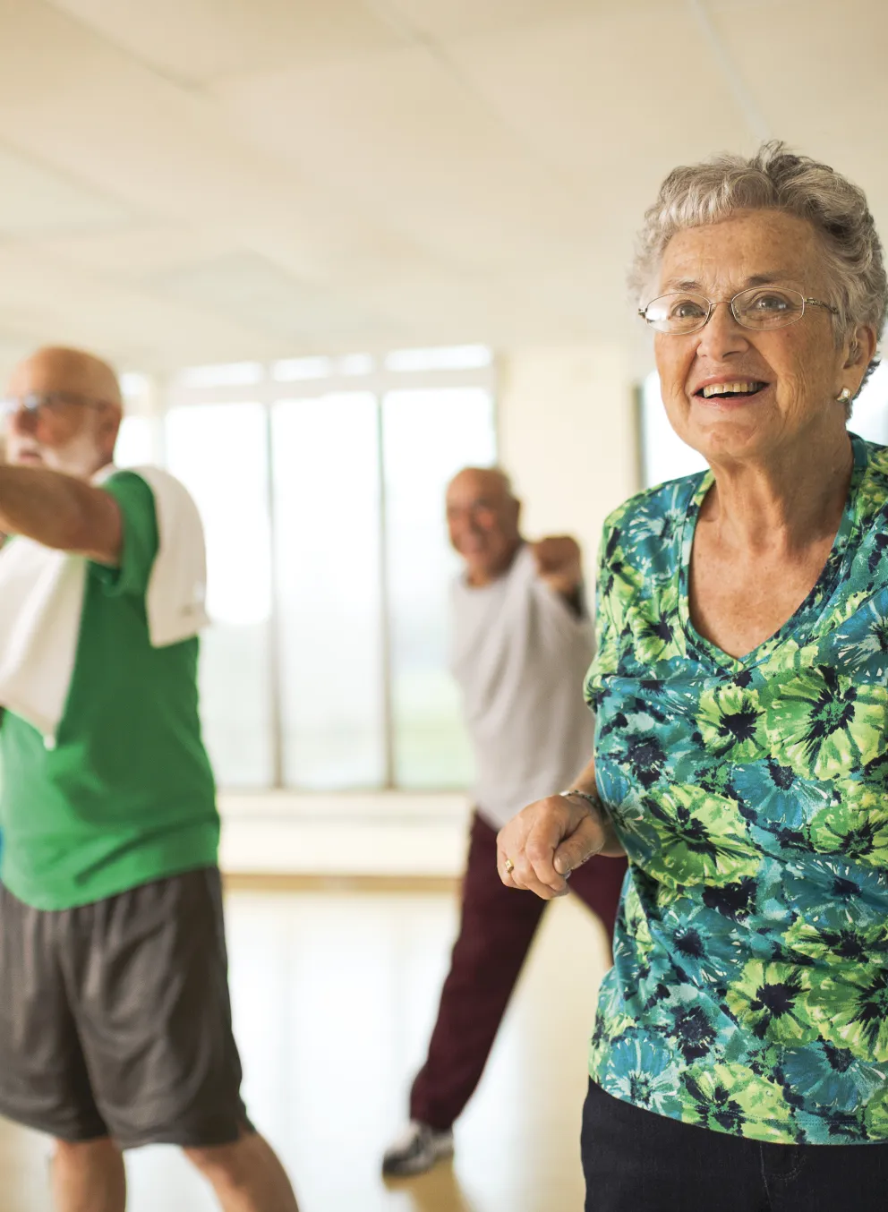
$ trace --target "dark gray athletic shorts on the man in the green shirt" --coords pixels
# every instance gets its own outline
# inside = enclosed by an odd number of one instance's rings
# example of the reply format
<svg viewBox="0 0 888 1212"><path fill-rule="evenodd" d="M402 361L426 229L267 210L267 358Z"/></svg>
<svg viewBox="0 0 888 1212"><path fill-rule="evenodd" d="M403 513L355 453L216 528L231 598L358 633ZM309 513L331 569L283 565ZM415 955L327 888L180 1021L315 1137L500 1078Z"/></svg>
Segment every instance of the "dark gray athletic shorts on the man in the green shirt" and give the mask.
<svg viewBox="0 0 888 1212"><path fill-rule="evenodd" d="M251 1131L240 1084L216 868L59 911L0 886L0 1115L210 1147Z"/></svg>

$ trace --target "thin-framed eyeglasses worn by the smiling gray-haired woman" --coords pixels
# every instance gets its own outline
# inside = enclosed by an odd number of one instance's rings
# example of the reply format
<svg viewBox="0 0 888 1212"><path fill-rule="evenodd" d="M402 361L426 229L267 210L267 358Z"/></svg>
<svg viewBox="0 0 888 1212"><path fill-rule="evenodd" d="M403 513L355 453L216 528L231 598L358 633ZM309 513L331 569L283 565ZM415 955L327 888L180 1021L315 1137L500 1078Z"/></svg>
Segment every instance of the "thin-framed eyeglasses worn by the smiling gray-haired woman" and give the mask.
<svg viewBox="0 0 888 1212"><path fill-rule="evenodd" d="M691 291L671 291L638 308L638 315L657 332L671 337L686 336L704 328L720 303L727 303L741 327L760 332L795 324L804 315L806 307L823 307L838 315L838 309L831 303L806 298L801 291L785 286L752 286L729 299L707 299L705 295Z"/></svg>

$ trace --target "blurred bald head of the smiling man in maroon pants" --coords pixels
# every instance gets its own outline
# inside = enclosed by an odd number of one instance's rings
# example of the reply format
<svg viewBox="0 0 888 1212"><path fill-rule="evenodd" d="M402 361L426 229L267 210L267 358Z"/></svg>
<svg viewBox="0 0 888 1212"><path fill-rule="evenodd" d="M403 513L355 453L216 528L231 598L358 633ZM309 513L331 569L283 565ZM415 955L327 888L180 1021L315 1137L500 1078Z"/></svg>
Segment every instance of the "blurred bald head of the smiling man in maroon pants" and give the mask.
<svg viewBox="0 0 888 1212"><path fill-rule="evenodd" d="M466 467L451 480L447 527L470 584L489 584L509 568L521 545L520 516L511 481L499 468Z"/></svg>

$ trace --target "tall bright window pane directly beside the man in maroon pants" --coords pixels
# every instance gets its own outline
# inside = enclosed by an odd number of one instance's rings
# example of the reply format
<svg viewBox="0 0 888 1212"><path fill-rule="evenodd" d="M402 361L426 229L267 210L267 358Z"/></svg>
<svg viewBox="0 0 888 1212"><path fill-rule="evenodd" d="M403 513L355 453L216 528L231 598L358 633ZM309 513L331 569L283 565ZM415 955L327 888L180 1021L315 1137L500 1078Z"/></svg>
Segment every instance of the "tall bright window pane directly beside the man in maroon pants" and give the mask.
<svg viewBox="0 0 888 1212"><path fill-rule="evenodd" d="M493 400L480 388L391 391L383 401L395 778L406 788L471 781L448 671L449 581L459 561L445 490L466 464L495 459Z"/></svg>

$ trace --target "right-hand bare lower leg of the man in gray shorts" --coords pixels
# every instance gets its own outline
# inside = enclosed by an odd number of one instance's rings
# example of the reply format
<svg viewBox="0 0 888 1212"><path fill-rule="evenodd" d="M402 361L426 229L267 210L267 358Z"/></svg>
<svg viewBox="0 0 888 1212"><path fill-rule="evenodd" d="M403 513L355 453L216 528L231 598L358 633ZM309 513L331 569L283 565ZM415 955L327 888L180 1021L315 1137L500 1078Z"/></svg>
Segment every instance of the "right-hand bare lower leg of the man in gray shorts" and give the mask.
<svg viewBox="0 0 888 1212"><path fill-rule="evenodd" d="M185 1156L211 1183L223 1212L299 1212L283 1166L256 1132L234 1144L185 1149Z"/></svg>

